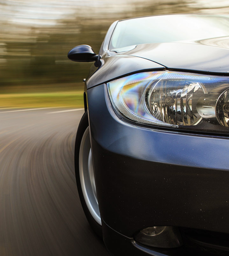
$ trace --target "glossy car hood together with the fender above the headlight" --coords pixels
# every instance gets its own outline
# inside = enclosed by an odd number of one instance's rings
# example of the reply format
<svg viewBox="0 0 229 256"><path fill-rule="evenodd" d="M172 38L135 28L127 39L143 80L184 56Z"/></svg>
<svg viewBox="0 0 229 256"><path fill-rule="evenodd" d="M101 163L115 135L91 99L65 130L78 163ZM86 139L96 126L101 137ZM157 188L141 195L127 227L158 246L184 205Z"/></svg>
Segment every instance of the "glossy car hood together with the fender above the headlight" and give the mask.
<svg viewBox="0 0 229 256"><path fill-rule="evenodd" d="M108 51L101 62L89 75L87 88L131 73L165 68L229 75L229 37L132 45Z"/></svg>

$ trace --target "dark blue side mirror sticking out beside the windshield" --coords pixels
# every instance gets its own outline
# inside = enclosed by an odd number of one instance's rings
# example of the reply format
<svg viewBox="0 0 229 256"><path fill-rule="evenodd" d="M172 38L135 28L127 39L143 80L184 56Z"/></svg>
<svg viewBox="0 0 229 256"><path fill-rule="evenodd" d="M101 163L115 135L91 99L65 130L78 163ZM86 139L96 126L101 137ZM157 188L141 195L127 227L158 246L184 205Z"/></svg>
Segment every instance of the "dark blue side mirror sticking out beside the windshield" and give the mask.
<svg viewBox="0 0 229 256"><path fill-rule="evenodd" d="M68 52L68 58L72 61L91 62L98 59L98 55L94 53L89 45L78 45Z"/></svg>

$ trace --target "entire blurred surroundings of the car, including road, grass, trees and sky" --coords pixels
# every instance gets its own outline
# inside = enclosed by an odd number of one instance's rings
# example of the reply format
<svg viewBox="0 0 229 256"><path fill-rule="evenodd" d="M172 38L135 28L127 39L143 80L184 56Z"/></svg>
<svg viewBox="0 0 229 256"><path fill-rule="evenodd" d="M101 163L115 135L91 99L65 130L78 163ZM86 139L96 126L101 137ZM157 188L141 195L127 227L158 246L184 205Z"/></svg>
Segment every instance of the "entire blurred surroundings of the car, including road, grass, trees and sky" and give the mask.
<svg viewBox="0 0 229 256"><path fill-rule="evenodd" d="M67 53L80 44L98 53L117 19L184 12L229 13L229 0L0 0L1 256L108 256L74 173L94 64Z"/></svg>

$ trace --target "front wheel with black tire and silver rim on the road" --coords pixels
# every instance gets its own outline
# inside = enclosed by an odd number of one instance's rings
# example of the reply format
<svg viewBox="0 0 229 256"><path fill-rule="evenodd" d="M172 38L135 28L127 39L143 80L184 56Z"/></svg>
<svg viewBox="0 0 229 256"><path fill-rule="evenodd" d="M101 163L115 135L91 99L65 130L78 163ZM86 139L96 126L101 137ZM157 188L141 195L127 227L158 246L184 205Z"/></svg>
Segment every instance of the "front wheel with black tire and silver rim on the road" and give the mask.
<svg viewBox="0 0 229 256"><path fill-rule="evenodd" d="M75 176L81 205L94 232L102 238L96 195L87 111L80 120L75 141Z"/></svg>

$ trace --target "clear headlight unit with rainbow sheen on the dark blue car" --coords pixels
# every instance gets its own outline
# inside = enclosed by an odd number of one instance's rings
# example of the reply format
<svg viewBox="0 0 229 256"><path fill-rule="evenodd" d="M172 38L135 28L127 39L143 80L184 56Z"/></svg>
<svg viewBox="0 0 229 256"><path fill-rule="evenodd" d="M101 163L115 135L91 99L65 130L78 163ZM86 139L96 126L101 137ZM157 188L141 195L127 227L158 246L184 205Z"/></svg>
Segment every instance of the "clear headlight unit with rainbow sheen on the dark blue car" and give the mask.
<svg viewBox="0 0 229 256"><path fill-rule="evenodd" d="M108 83L114 109L136 123L228 132L229 77L154 71Z"/></svg>

